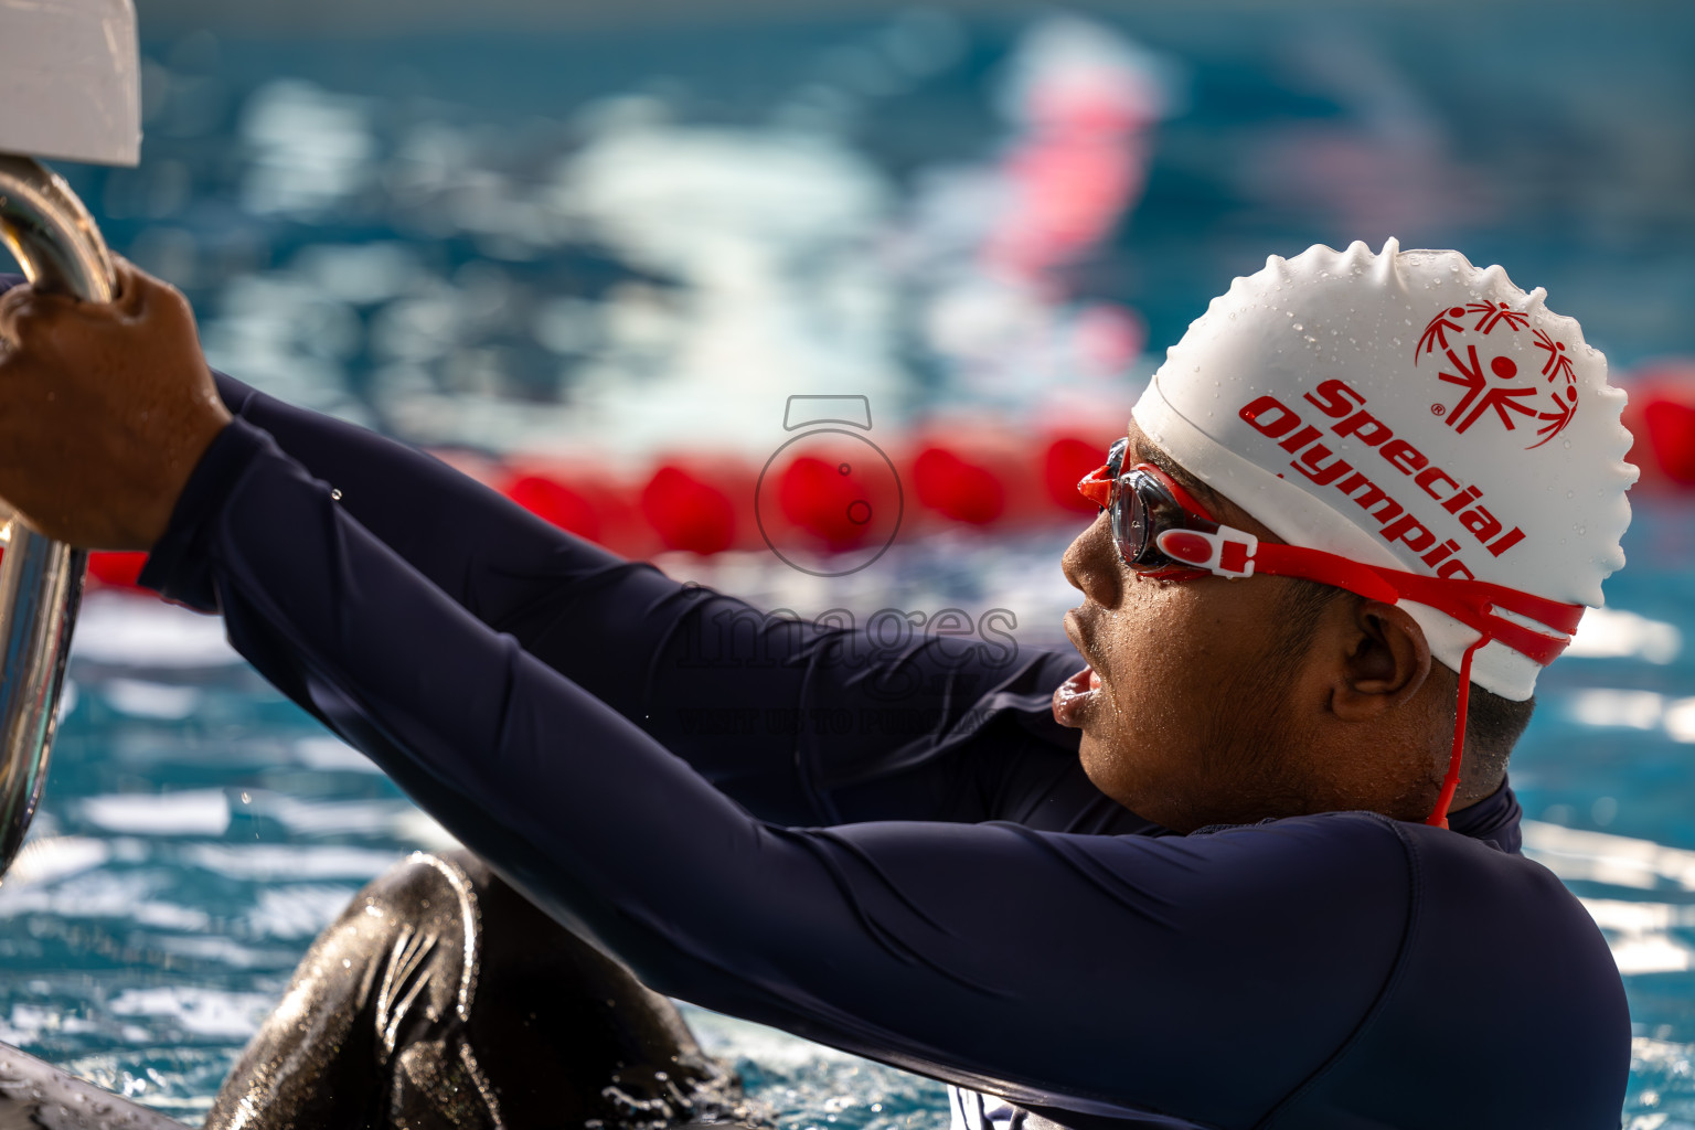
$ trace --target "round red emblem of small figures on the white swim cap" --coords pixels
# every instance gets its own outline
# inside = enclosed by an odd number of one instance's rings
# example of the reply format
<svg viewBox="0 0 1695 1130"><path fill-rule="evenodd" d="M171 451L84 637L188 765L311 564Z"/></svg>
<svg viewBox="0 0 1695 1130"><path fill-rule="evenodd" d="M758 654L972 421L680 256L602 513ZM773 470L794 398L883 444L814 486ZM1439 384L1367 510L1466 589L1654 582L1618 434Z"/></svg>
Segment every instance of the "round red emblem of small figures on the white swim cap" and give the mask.
<svg viewBox="0 0 1695 1130"><path fill-rule="evenodd" d="M1473 320L1475 319L1475 320ZM1578 381L1571 368L1571 352L1563 341L1554 341L1544 330L1529 329L1529 315L1512 310L1505 302L1473 302L1464 307L1446 307L1424 327L1412 363L1425 354L1441 352L1439 379L1464 390L1454 405L1434 403L1431 412L1444 417L1448 427L1464 434L1485 413L1495 413L1509 432L1519 424L1541 425L1539 440L1526 451L1541 447L1566 430L1578 410ZM1502 337L1492 337L1505 327ZM1514 342L1514 335L1531 334L1531 346L1546 357L1541 373L1526 373L1519 361L1498 352Z"/></svg>

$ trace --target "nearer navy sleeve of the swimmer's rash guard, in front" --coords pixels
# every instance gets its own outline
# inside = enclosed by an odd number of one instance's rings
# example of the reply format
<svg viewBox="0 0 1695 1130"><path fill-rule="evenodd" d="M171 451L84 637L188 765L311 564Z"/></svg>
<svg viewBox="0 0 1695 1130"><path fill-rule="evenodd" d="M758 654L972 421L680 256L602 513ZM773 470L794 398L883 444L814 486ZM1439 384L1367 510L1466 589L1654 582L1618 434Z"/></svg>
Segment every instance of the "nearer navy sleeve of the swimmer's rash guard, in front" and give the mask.
<svg viewBox="0 0 1695 1130"><path fill-rule="evenodd" d="M1059 1118L1364 1125L1359 1108L1397 1094L1371 1064L1409 1052L1392 1040L1373 1057L1361 1033L1442 996L1407 971L1436 962L1459 1000L1483 993L1487 962L1414 940L1420 915L1448 928L1420 910L1420 852L1510 861L1454 834L1366 813L1161 839L759 820L466 612L242 420L197 468L144 581L222 612L266 678L656 989ZM1531 903L1561 895L1548 883ZM1534 925L1522 891L1497 886L1512 898L1480 891L1480 906ZM1542 961L1514 976L1536 983ZM1546 961L1570 972L1570 952ZM1407 1023L1425 1020L1392 1032ZM1539 1052L1566 1045L1541 1037ZM1459 1086L1478 1089L1449 1072ZM1344 1100L1346 1116L1324 1106ZM1600 1125L1556 1106L1524 1125ZM1453 1113L1397 1125L1503 1125Z"/></svg>

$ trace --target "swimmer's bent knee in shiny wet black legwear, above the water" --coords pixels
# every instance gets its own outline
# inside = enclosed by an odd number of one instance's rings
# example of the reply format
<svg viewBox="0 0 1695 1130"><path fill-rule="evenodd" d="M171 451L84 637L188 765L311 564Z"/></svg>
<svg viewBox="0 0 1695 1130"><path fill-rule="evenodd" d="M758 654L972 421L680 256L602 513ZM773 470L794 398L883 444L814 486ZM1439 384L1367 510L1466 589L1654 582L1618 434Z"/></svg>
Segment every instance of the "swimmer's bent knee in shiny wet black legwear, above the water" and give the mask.
<svg viewBox="0 0 1695 1130"><path fill-rule="evenodd" d="M668 1000L470 854L366 886L295 971L207 1130L527 1130L749 1116Z"/></svg>

